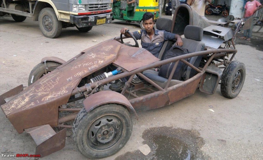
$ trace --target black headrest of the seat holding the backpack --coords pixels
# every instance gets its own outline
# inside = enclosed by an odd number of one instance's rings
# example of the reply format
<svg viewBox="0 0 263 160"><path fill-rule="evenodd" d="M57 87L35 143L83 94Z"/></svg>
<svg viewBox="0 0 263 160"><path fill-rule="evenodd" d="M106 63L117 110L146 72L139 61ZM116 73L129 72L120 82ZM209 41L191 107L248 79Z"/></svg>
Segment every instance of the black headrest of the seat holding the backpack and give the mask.
<svg viewBox="0 0 263 160"><path fill-rule="evenodd" d="M203 38L203 28L198 26L187 25L184 29L184 37L186 39L201 41Z"/></svg>

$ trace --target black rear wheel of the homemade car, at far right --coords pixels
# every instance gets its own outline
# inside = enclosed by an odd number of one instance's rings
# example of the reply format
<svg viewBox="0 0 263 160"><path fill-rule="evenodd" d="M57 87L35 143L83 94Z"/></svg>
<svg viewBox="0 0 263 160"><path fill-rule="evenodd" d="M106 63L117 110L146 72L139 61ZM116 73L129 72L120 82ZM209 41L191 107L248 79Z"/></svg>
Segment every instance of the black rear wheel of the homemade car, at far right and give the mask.
<svg viewBox="0 0 263 160"><path fill-rule="evenodd" d="M231 62L223 71L221 77L221 93L226 98L235 98L241 91L246 77L246 67L244 63L238 61Z"/></svg>

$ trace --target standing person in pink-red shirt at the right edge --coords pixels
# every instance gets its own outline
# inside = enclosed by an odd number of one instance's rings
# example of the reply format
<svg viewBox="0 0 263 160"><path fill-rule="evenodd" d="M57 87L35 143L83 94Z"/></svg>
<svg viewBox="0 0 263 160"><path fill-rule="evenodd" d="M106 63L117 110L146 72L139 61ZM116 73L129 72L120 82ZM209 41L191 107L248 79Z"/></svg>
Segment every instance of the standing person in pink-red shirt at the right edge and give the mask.
<svg viewBox="0 0 263 160"><path fill-rule="evenodd" d="M244 17L246 17L247 19L250 18L251 16L254 15L254 13L259 10L260 8L262 8L263 6L255 0L250 0L246 3L245 6L245 13L244 13ZM247 41L251 40L252 37L252 29L253 29L253 21L251 21L251 27L248 30L244 30L244 37L241 37L240 39L246 39Z"/></svg>

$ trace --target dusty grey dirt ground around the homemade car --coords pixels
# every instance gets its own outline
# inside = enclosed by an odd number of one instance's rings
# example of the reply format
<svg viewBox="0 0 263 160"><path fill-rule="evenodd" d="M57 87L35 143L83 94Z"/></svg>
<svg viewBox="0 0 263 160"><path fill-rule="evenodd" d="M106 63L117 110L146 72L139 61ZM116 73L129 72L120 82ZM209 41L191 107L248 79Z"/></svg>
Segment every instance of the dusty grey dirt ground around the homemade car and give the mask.
<svg viewBox="0 0 263 160"><path fill-rule="evenodd" d="M63 29L58 38L48 39L31 18L18 23L11 16L0 17L0 95L20 84L27 86L31 69L43 57L69 60L90 46L119 36L122 27L140 29L137 23L114 20L95 26L88 33L75 27ZM133 117L128 143L105 159L263 159L262 37L258 33L251 42L237 39L234 60L246 65L246 79L239 96L223 97L219 85L214 95L197 90L169 106L138 112L139 120ZM2 111L0 121L1 152L34 154L36 144L31 136L18 134ZM76 149L70 130L68 136L62 150L42 159L87 159ZM139 150L144 144L150 148L147 156Z"/></svg>

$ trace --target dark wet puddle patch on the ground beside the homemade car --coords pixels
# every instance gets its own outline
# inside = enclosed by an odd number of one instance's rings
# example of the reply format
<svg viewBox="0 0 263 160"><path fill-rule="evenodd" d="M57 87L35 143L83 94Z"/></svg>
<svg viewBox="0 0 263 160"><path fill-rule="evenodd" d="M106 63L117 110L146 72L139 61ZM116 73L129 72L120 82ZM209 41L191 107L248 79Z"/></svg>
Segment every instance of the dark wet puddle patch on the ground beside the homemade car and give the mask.
<svg viewBox="0 0 263 160"><path fill-rule="evenodd" d="M118 156L120 159L158 159L158 160L192 160L209 159L200 148L204 140L196 130L185 130L172 127L154 127L144 130L143 144L147 144L151 152L144 155L140 150L127 152Z"/></svg>

